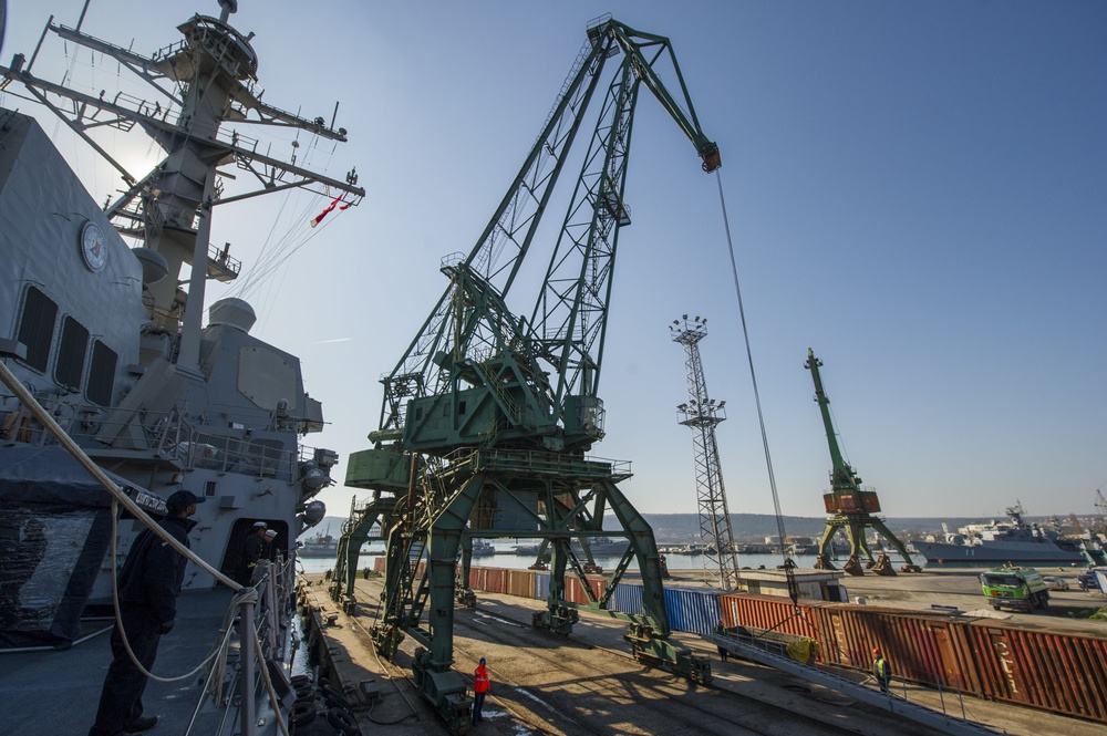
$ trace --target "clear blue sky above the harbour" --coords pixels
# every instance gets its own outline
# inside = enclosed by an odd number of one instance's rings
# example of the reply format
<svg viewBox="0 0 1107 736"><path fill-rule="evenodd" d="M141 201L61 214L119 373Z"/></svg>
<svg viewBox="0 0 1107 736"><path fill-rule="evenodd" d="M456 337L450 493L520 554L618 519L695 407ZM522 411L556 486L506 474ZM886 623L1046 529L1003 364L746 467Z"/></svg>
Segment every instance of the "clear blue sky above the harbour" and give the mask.
<svg viewBox="0 0 1107 736"><path fill-rule="evenodd" d="M4 63L49 12L72 25L80 8L14 3ZM197 9L218 14L215 0L95 0L84 30L148 53ZM310 439L343 458L368 446L379 377L445 286L439 259L473 247L604 12L672 40L721 147L784 511L820 515L828 485L810 346L886 515L994 516L1016 498L1031 515L1092 514L1107 486L1103 2L241 0L232 24L257 32L266 102L328 120L342 103L351 143L301 155L332 175L355 164L368 189L250 298L256 332L302 357L323 402L330 425ZM63 152L101 197L117 188L90 154ZM770 512L716 179L699 164L643 96L594 454L633 463L623 487L642 511L696 511L666 325L706 315L730 508ZM228 206L213 239L249 266L278 210L279 234L325 204ZM350 496L322 497L342 515Z"/></svg>

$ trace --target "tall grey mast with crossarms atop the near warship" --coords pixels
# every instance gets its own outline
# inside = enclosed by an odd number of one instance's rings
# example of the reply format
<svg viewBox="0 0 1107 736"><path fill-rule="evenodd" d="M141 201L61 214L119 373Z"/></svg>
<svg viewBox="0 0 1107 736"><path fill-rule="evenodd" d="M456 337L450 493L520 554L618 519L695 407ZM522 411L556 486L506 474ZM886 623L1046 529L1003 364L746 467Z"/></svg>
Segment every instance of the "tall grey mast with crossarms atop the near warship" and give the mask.
<svg viewBox="0 0 1107 736"><path fill-rule="evenodd" d="M122 196L106 207L106 212L121 235L143 241L165 260L170 278L149 286L154 323L170 332L179 330L176 364L194 375L199 374L206 281L231 281L241 268L227 248L210 246L213 209L291 188L349 197L346 204L358 204L365 195L356 186L355 170L344 180L334 179L298 166L294 156L286 162L262 153L257 139L239 132L239 126L254 124L299 128L332 141L346 139L345 129L335 129L333 120L330 124L322 117L309 120L261 102L263 91L257 86L258 56L250 45L254 34L244 35L228 24L238 7L236 0L219 0L219 4L218 19L194 15L177 27L184 40L148 56L85 34L80 30L81 23L71 29L50 19L43 38L50 31L110 56L154 90L152 100L124 93L114 96L101 93L97 97L40 80L31 73L38 49L30 63L17 54L11 66L0 66L0 89L12 81L22 82L31 99L59 115L127 184ZM235 127L225 131L225 123ZM136 125L166 152L162 162L142 178L131 174L89 133L104 126L130 131ZM221 196L223 179L234 178L219 169L228 164L252 174L258 187L232 197ZM187 291L178 287L185 265L192 267Z"/></svg>

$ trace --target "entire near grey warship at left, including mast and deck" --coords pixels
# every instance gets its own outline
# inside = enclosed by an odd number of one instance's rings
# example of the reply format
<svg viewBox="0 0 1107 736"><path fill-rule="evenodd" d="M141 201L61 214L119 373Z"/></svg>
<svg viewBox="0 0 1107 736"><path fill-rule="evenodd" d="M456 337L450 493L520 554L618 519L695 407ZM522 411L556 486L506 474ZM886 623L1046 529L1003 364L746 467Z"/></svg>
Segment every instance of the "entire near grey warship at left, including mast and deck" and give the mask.
<svg viewBox="0 0 1107 736"><path fill-rule="evenodd" d="M0 32L3 11L0 0ZM152 681L145 712L170 733L287 734L296 539L322 520L315 496L338 456L303 443L322 429L322 406L304 391L300 360L250 333L247 301L216 301L204 324L206 283L234 282L242 268L229 246L210 245L213 219L225 205L297 189L318 199L322 212L302 224L314 227L364 190L354 170L331 178L251 137L344 142L345 131L261 101L254 34L230 25L236 0L185 20L183 38L148 55L83 32L87 11L73 28L51 18L30 56L0 66L0 102L56 114L123 179L97 205L42 123L0 107L3 732L92 724L112 659L103 634L115 620L114 576L164 499L184 489L206 502L155 665L180 682ZM148 99L40 79L46 39L108 60ZM105 129L144 133L161 162L132 173L97 137ZM257 521L277 531L277 553L242 581Z"/></svg>

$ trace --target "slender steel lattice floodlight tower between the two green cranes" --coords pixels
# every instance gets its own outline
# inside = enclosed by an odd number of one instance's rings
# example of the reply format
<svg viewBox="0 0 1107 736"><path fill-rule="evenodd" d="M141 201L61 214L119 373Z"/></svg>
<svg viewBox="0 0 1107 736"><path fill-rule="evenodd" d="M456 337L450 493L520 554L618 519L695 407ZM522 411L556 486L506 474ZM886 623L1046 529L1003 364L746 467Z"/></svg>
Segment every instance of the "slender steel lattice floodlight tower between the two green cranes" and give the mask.
<svg viewBox="0 0 1107 736"><path fill-rule="evenodd" d="M696 315L689 322L684 314L669 325L673 342L684 345L684 362L689 375L689 401L676 408L681 424L692 429L695 450L695 485L700 505L700 538L703 541L703 569L718 573L718 584L733 590L738 582L738 557L731 529L731 514L726 508L723 470L718 463L718 444L715 426L726 418L725 401L718 403L707 397L707 382L700 361L700 341L707 336L707 319Z"/></svg>

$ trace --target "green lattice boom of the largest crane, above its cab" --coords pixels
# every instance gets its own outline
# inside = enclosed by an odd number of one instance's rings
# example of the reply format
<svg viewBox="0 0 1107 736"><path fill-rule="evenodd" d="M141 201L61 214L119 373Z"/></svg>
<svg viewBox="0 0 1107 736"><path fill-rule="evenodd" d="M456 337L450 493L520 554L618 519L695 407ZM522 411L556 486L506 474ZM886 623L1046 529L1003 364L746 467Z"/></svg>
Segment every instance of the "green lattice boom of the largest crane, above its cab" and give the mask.
<svg viewBox="0 0 1107 736"><path fill-rule="evenodd" d="M540 293L529 319L516 318L507 309L511 288L539 232L604 64L620 50L624 59L604 96ZM655 69L661 60L672 60L682 104L661 81ZM544 446L554 442L581 449L599 438L597 427L576 427L572 415L598 401L619 230L630 224L624 184L640 83L646 84L695 145L703 168L720 166L718 147L700 127L669 40L610 18L591 25L588 44L542 133L476 245L467 256L455 253L443 262L442 270L451 282L393 371L382 380L381 425L371 438L394 439L404 432L417 433L404 429L408 403L442 396L458 381L486 384L489 376L482 376L475 365L488 354L507 353L517 364L505 370L527 384L527 396L517 397L517 411L509 402L501 402L508 419L505 428L519 428L516 418L549 415L550 421L540 427L532 421L526 423L524 433L536 442L552 433L558 438L547 439ZM503 381L503 372L495 373ZM547 374L554 383L546 380ZM454 439L444 447L453 448Z"/></svg>

